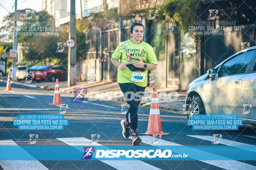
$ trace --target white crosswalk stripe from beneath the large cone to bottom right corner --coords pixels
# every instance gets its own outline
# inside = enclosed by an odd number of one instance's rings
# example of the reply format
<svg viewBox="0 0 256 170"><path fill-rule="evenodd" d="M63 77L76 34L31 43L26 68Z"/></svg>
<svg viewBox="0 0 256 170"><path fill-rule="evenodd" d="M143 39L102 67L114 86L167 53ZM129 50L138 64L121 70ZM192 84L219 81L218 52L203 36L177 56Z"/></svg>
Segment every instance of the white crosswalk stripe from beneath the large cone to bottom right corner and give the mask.
<svg viewBox="0 0 256 170"><path fill-rule="evenodd" d="M132 139L132 137L130 136L129 137L130 139ZM142 142L145 143L145 144L151 144L152 142L152 136L140 136L140 138L142 139ZM181 144L177 144L177 143L174 143L174 142L169 142L169 141L166 141L166 140L163 140L163 139L160 139L159 141L159 144L157 144L156 146L161 148L161 146L166 146L166 145L169 145L169 146L183 146L183 147L186 147L184 145L181 145ZM193 149L192 147L187 147L188 150L195 150L195 152L198 152L198 153L207 153L205 151L202 151L202 150L197 150L197 149ZM180 153L179 153L180 154ZM224 158L223 156L218 156L218 155L215 155L213 153L207 153L207 155L212 155L214 157L218 157L219 159L223 158L223 159L226 159ZM190 158L192 159L195 159L197 160L198 158L196 157L191 157L189 156ZM226 169L226 170L255 170L255 166L253 165L250 165L250 164L245 164L243 162L240 162L240 161L235 161L235 160L221 160L221 161L211 161L211 160L198 160L198 161L202 161L204 163L207 163L207 164L211 164L213 166L216 166L216 167L220 167L220 168L223 168L223 169Z"/></svg>

